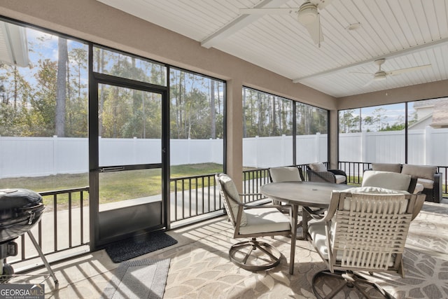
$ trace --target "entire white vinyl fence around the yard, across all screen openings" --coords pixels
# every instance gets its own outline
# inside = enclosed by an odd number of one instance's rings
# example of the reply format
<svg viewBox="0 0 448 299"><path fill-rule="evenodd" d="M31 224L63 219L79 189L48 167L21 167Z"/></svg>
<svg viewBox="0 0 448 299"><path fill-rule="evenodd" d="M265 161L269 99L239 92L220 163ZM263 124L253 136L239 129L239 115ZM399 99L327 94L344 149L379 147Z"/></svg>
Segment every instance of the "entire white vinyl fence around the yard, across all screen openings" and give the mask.
<svg viewBox="0 0 448 299"><path fill-rule="evenodd" d="M172 139L171 164L223 163L222 139ZM99 139L100 165L161 162L159 139ZM297 136L297 164L325 162L327 134ZM245 167L293 164L290 136L243 140ZM348 162L404 162L405 132L339 134L339 160ZM408 163L448 165L448 129L409 130ZM0 178L88 172L85 138L0 137Z"/></svg>

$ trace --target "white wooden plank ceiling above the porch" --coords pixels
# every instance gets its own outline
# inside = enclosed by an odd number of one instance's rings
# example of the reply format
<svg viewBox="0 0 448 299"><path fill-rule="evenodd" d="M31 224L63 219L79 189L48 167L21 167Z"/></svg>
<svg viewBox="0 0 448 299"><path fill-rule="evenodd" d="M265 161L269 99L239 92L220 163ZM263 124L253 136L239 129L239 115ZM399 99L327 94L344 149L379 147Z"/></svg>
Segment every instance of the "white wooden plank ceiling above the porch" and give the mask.
<svg viewBox="0 0 448 299"><path fill-rule="evenodd" d="M332 0L314 44L296 15L239 8L298 8L303 0L98 0L334 97L448 79L448 1ZM347 30L360 23L357 30ZM373 81L384 71L431 67Z"/></svg>

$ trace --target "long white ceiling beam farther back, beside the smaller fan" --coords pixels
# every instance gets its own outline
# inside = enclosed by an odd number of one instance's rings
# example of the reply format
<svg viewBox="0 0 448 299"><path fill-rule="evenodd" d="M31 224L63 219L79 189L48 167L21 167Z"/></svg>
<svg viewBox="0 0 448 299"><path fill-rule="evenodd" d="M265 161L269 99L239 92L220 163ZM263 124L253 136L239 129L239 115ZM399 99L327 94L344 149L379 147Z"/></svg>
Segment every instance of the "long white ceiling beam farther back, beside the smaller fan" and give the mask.
<svg viewBox="0 0 448 299"><path fill-rule="evenodd" d="M446 38L446 39L439 39L438 41L433 41L432 43L423 43L423 44L421 44L419 46L414 46L412 48L407 48L407 49L399 50L399 51L396 51L396 52L393 52L393 53L388 53L388 54L385 54L385 55L372 57L372 58L370 58L368 60L362 60L362 61L355 62L355 63L352 63L352 64L346 64L346 65L343 65L342 67L336 67L335 69L328 69L326 71L321 71L319 73L311 74L309 76L303 76L303 77L300 77L300 78L295 78L295 79L293 79L293 83L301 83L302 81L304 81L306 79L309 79L309 78L317 78L317 77L321 77L321 76L325 76L325 75L328 75L328 74L335 73L337 71L342 71L343 69L349 69L351 67L358 67L359 65L367 64L367 63L370 63L370 62L374 62L375 60L379 60L381 58L386 58L386 59L387 58L395 58L395 57L400 57L402 55L416 53L416 52L419 52L421 50L428 50L430 48L440 47L440 46L443 46L446 43L448 43L448 38Z"/></svg>

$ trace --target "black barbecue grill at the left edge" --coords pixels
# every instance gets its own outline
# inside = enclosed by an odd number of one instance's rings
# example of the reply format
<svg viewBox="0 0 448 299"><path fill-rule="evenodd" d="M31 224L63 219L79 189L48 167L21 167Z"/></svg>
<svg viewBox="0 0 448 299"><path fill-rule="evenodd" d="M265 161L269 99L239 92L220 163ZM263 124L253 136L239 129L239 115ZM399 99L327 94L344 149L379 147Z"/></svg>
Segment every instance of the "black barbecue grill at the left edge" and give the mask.
<svg viewBox="0 0 448 299"><path fill-rule="evenodd" d="M0 277L14 274L6 263L8 256L17 255L14 239L29 232L41 220L45 206L38 193L27 189L0 189ZM35 244L36 245L36 244Z"/></svg>

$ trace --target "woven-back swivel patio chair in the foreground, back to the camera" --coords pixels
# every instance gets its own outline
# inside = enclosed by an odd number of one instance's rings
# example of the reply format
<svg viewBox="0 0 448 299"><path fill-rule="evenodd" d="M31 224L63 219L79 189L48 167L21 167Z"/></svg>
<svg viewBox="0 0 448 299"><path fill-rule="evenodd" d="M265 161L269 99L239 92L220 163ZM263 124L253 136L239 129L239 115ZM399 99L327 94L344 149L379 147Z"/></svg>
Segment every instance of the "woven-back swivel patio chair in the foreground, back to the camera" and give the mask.
<svg viewBox="0 0 448 299"><path fill-rule="evenodd" d="M325 217L309 223L310 242L328 267L314 275L314 295L332 298L348 286L351 290L356 288L365 298L370 298L372 292L390 298L377 284L354 271L371 275L395 272L404 277L402 253L409 224L424 200L422 194L377 187L333 191ZM330 277L341 284L325 286Z"/></svg>

